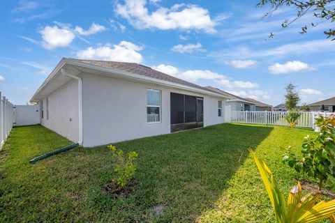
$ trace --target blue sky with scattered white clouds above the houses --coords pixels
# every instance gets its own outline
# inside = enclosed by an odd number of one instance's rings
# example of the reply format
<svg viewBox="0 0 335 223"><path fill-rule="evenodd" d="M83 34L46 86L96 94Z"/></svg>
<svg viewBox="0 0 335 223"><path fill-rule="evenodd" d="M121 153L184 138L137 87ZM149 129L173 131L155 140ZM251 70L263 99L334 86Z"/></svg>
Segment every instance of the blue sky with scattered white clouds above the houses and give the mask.
<svg viewBox="0 0 335 223"><path fill-rule="evenodd" d="M1 1L0 91L25 104L62 57L142 63L271 105L284 87L301 102L335 96L331 28L258 1ZM318 23L301 35L299 28ZM269 33L275 37L267 40Z"/></svg>

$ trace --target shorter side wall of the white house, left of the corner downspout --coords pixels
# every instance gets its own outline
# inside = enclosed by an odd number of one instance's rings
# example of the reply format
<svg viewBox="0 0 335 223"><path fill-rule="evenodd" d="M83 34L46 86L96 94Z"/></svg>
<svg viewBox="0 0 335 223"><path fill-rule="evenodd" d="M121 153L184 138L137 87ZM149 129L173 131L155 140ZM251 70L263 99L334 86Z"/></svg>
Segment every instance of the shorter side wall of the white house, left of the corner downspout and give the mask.
<svg viewBox="0 0 335 223"><path fill-rule="evenodd" d="M75 142L79 140L77 83L77 80L70 80L47 95L49 118L47 118L47 98L43 100L44 115L40 118L41 125Z"/></svg>

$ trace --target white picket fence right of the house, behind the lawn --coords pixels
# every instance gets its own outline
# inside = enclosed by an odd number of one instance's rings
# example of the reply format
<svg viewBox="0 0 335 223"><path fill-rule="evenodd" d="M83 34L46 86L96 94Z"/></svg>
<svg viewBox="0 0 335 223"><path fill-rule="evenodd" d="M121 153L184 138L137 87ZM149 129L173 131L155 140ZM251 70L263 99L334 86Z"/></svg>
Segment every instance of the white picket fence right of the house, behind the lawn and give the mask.
<svg viewBox="0 0 335 223"><path fill-rule="evenodd" d="M300 112L297 127L314 128L314 117L318 112ZM230 112L230 122L263 125L289 125L285 120L288 112Z"/></svg>

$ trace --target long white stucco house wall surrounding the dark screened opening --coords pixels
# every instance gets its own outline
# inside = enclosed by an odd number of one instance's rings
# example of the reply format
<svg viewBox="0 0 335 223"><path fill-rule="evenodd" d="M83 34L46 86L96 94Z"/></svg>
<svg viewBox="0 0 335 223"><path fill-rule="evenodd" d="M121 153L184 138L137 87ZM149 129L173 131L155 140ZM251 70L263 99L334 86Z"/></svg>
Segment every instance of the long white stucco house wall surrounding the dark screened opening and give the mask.
<svg viewBox="0 0 335 223"><path fill-rule="evenodd" d="M162 92L161 123L147 123L147 89ZM218 98L156 84L84 74L84 146L170 133L170 92L203 97L204 126L223 123L224 118L218 117Z"/></svg>

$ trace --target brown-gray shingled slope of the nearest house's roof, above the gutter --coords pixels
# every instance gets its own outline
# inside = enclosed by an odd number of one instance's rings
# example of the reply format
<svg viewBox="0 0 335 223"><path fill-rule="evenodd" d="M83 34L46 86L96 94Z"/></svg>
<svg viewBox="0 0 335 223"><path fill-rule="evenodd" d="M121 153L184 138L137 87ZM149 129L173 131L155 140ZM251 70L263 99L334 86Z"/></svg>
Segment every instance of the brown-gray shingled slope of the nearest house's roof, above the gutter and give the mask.
<svg viewBox="0 0 335 223"><path fill-rule="evenodd" d="M137 74L137 75L144 75L147 77L153 77L156 79L161 79L163 81L167 81L167 82L172 82L175 84L182 84L182 85L186 85L186 86L191 86L193 88L196 89L202 89L204 91L210 91L210 92L214 92L215 91L211 91L210 89L207 89L203 86L199 86L197 84L193 84L191 82L186 82L182 79L179 79L177 77L172 77L170 75L167 75L163 72L160 72L158 70L154 70L152 68L149 68L147 66L138 64L138 63L126 63L126 62L116 62L116 61L94 61L94 60L82 60L82 59L73 59L75 61L80 61L80 62L84 62L84 63L90 63L90 64L94 64L94 65L98 65L98 66L103 66L106 68L113 68L116 70L121 70L121 71L125 71L125 72L131 72L133 74Z"/></svg>

